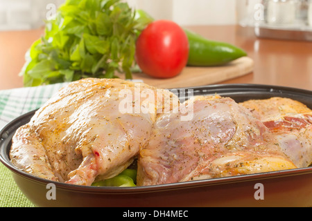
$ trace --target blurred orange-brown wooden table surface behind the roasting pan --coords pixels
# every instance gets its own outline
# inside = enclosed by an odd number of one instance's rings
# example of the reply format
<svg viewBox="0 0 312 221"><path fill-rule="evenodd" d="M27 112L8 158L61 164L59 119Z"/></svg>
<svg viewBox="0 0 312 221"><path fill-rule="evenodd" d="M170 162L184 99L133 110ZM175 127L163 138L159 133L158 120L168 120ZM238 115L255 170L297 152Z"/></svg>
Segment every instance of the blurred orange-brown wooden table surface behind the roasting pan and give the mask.
<svg viewBox="0 0 312 221"><path fill-rule="evenodd" d="M254 70L220 84L268 84L312 90L312 42L259 39L252 28L241 26L190 26L189 30L243 48L254 60ZM19 72L24 55L39 30L0 32L0 90L22 87Z"/></svg>

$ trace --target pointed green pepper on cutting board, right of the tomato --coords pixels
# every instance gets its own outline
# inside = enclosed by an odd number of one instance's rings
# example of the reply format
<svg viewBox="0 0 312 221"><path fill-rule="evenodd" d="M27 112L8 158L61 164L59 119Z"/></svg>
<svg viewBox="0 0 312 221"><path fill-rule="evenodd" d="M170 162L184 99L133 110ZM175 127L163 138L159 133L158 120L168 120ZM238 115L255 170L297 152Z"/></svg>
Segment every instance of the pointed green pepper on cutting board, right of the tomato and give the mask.
<svg viewBox="0 0 312 221"><path fill-rule="evenodd" d="M247 55L231 44L211 41L187 29L184 32L189 39L188 66L219 66Z"/></svg>

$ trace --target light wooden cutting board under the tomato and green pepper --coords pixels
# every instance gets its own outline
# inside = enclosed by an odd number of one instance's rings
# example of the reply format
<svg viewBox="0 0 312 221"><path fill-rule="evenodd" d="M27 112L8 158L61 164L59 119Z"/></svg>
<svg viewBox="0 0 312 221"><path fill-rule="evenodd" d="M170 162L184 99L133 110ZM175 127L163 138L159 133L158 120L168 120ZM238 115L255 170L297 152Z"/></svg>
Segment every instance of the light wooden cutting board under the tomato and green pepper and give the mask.
<svg viewBox="0 0 312 221"><path fill-rule="evenodd" d="M173 78L156 79L144 73L133 73L133 79L141 79L144 83L158 88L182 88L216 84L220 81L247 75L253 70L254 61L250 57L241 57L225 66L186 67Z"/></svg>

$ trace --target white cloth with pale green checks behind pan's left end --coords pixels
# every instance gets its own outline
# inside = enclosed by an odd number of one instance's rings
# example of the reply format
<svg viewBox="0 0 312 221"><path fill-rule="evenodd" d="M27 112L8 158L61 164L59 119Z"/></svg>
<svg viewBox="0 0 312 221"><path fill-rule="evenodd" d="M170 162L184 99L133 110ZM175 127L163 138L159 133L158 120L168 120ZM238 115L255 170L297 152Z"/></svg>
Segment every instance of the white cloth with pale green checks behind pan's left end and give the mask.
<svg viewBox="0 0 312 221"><path fill-rule="evenodd" d="M20 115L40 108L66 84L0 90L0 129Z"/></svg>

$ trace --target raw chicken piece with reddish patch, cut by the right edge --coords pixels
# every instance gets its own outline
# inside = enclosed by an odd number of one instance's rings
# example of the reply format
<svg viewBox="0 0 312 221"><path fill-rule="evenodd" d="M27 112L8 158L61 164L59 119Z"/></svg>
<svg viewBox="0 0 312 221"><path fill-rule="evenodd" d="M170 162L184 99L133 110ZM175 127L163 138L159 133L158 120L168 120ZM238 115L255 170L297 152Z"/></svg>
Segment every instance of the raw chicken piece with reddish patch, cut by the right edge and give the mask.
<svg viewBox="0 0 312 221"><path fill-rule="evenodd" d="M312 110L301 102L283 97L249 100L241 105L266 125L281 150L297 167L312 163Z"/></svg>

